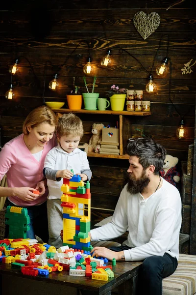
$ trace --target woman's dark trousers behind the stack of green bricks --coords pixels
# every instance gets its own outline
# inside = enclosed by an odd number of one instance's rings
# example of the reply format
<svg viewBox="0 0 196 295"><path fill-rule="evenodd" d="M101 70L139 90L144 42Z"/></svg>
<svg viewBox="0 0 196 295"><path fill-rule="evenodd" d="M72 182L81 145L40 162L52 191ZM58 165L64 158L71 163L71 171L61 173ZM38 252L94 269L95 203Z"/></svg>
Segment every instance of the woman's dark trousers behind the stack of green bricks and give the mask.
<svg viewBox="0 0 196 295"><path fill-rule="evenodd" d="M7 206L16 206L13 203L11 203L8 199L6 199L5 203ZM17 206L20 207L20 206ZM28 215L30 217L30 230L26 232L27 238L35 238L36 236L39 236L43 242L48 243L49 242L49 230L48 230L48 215L47 215L47 202L44 202L41 205L38 206L29 206L23 208L26 208L28 211ZM9 226L6 225L5 227L5 237L8 237L9 235ZM21 237L21 236L19 236Z"/></svg>

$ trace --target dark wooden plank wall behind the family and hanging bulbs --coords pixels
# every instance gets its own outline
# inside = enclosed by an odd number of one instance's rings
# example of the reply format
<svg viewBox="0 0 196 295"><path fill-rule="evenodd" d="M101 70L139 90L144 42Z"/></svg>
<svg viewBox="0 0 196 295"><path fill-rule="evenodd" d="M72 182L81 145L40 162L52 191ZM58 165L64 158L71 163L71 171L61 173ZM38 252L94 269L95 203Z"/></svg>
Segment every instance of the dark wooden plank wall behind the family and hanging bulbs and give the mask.
<svg viewBox="0 0 196 295"><path fill-rule="evenodd" d="M124 119L128 137L143 134L163 144L169 154L187 161L188 145L194 142L196 65L190 74L182 75L184 64L196 60L196 10L193 1L154 0L19 0L1 3L0 13L0 127L2 145L22 132L25 116L44 101L65 101L66 94L78 85L85 91L83 66L90 55L98 75L96 92L117 84L127 89L144 90L150 100L152 115ZM157 12L160 26L144 40L133 24L136 12ZM160 49L157 49L160 44ZM167 54L172 61L171 80L159 78L155 67ZM80 44L79 44L80 43ZM73 52L76 46L78 48ZM110 47L112 66L103 69L100 59ZM157 85L156 95L145 91L148 74L131 56L137 58ZM72 54L72 55L71 55ZM21 57L20 73L13 78L16 98L7 101L4 93L10 85L9 66ZM29 62L31 66L29 65ZM53 74L59 72L57 92L48 88ZM92 83L93 78L87 78ZM171 89L169 91L169 84ZM45 87L44 87L45 85ZM169 93L170 92L170 93ZM170 98L169 99L169 94ZM175 137L180 118L185 120L188 136ZM96 116L94 121L109 121ZM84 120L85 137L91 137L92 119ZM89 158L93 171L92 220L112 215L123 185L126 183L127 160ZM180 166L179 166L180 167Z"/></svg>

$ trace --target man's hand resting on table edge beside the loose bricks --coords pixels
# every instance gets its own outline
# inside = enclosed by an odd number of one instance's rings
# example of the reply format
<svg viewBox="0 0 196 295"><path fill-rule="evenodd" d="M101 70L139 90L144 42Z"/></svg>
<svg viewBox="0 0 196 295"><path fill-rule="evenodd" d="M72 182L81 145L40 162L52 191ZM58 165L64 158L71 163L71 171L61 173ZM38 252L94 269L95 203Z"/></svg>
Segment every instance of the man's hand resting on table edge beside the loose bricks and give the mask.
<svg viewBox="0 0 196 295"><path fill-rule="evenodd" d="M94 252L94 253L93 253ZM116 260L124 261L124 251L121 252L115 252L110 249L107 249L105 247L95 247L93 250L91 250L91 254L93 253L93 256L96 257L105 257L109 260L112 260L115 258Z"/></svg>

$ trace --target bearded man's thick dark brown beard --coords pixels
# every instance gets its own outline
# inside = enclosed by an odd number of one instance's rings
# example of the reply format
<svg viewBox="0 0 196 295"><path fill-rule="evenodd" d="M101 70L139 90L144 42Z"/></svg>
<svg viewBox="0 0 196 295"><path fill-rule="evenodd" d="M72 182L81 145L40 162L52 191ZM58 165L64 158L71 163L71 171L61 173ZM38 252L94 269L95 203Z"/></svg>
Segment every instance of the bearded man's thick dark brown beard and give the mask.
<svg viewBox="0 0 196 295"><path fill-rule="evenodd" d="M145 171L143 171L142 176L139 179L136 179L133 174L129 174L127 192L130 194L138 194L142 192L142 190L147 187L150 179L145 175Z"/></svg>

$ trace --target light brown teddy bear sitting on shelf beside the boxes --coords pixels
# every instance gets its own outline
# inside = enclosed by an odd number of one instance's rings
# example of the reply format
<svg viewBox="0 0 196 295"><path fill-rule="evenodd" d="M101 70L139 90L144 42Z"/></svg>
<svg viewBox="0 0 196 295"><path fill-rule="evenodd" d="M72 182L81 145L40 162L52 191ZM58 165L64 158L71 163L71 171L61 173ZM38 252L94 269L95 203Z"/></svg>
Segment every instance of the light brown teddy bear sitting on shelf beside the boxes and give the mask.
<svg viewBox="0 0 196 295"><path fill-rule="evenodd" d="M90 138L89 145L88 145L88 151L95 151L99 152L100 148L100 142L101 142L101 134L102 134L102 128L104 125L102 123L94 123L92 126L92 133L93 135Z"/></svg>

